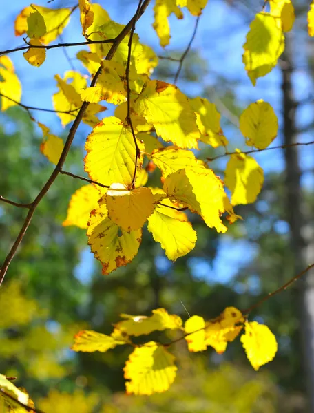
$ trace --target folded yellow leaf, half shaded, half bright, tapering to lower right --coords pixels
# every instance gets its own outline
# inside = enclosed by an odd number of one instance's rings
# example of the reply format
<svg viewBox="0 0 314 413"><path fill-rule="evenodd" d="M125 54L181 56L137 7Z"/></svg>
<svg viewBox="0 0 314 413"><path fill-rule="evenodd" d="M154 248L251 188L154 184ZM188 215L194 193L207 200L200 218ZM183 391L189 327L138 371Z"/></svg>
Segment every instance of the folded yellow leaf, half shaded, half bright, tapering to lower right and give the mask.
<svg viewBox="0 0 314 413"><path fill-rule="evenodd" d="M167 176L163 190L172 200L200 214L209 228L214 227L222 233L227 231L220 219L224 213L223 184L211 169L201 165L197 169L179 169Z"/></svg>

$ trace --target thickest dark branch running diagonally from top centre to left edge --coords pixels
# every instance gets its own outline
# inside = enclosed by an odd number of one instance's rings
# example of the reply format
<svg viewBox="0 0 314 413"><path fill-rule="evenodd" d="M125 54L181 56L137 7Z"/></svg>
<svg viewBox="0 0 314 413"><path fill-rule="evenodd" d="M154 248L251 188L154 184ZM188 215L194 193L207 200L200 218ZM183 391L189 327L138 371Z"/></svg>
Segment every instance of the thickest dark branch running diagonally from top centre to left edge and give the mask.
<svg viewBox="0 0 314 413"><path fill-rule="evenodd" d="M106 60L110 60L112 59L112 57L114 56L118 45L121 43L121 41L123 41L123 39L125 38L125 36L127 36L127 34L132 30L134 21L138 20L142 14L145 12L147 6L149 5L150 0L144 0L143 2L143 6L140 8L140 12L137 12L136 10L136 14L134 14L134 17L132 17L132 19L129 21L129 23L127 23L127 25L125 25L125 27L123 28L123 30L121 31L121 33L116 37L116 41L114 41L112 47L110 48L107 56L106 56ZM97 70L96 74L94 75L94 78L92 79L91 82L91 87L94 87L94 85L96 85L97 80L98 80L98 76L101 74L101 66L99 67L99 69ZM70 128L69 134L67 135L67 140L65 141L65 145L63 147L63 151L61 153L59 162L57 163L56 167L54 168L54 171L52 172L52 174L50 175L50 178L48 178L48 181L44 184L43 188L41 189L41 191L39 192L39 194L36 196L36 198L34 199L34 201L32 202L32 206L30 207L29 211L28 211L28 215L26 215L26 218L23 222L23 225L21 227L21 230L19 231L19 234L17 235L17 238L14 242L14 244L12 245L12 248L10 249L8 255L6 256L6 259L4 260L1 270L0 270L0 285L3 282L3 279L6 275L6 272L8 271L8 267L10 266L10 262L12 261L12 259L14 258L15 253L17 253L17 248L19 248L19 245L21 244L23 237L28 229L28 226L30 226L30 222L32 221L32 217L34 215L34 211L36 210L37 205L39 204L39 202L41 202L41 200L43 199L43 197L45 196L45 194L48 192L48 190L50 189L52 183L54 182L54 180L56 180L56 177L59 175L65 159L67 158L67 153L69 153L70 151L70 147L72 145L74 136L76 134L76 131L81 123L81 120L83 119L83 116L86 112L86 109L88 107L89 103L88 102L83 102L83 105L81 106L81 109L79 110L79 113L77 114L74 123L72 125L72 127Z"/></svg>

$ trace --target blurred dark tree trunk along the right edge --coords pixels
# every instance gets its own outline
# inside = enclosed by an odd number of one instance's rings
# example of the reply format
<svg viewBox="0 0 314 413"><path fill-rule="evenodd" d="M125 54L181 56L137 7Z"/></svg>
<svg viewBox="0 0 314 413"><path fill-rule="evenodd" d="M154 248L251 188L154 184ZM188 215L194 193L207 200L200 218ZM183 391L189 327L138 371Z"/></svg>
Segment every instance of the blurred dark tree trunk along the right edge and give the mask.
<svg viewBox="0 0 314 413"><path fill-rule="evenodd" d="M284 116L284 144L297 142L295 109L291 77L293 61L291 38L286 36L286 48L282 55L282 98ZM309 149L312 150L312 149ZM314 262L313 227L306 211L306 202L301 188L302 171L297 146L284 150L286 162L286 217L290 226L293 272L300 273L308 264ZM314 413L314 271L309 271L295 285L297 299L295 311L300 319L300 359L303 361L304 381L308 399L308 412Z"/></svg>

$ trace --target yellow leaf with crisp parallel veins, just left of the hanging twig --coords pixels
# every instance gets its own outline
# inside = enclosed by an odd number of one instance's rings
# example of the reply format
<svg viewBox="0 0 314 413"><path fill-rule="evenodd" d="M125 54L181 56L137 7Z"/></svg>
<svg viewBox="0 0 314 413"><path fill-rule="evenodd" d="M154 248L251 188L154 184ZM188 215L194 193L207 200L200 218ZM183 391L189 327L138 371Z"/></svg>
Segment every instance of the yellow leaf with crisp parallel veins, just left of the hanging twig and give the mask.
<svg viewBox="0 0 314 413"><path fill-rule="evenodd" d="M144 145L137 140L140 151ZM111 185L129 185L135 169L136 148L132 132L120 119L110 116L99 123L85 143L85 171L92 180ZM137 169L143 163L137 162Z"/></svg>

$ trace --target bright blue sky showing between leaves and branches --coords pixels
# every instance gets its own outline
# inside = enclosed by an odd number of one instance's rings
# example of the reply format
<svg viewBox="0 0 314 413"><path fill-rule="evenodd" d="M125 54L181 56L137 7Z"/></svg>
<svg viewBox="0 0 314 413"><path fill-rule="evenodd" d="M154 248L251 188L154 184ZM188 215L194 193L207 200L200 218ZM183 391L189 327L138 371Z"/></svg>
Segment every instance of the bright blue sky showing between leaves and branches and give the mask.
<svg viewBox="0 0 314 413"><path fill-rule="evenodd" d="M127 23L136 8L136 2L132 1L127 2L127 6L118 6L120 4L119 1L109 2L99 0L98 3L101 3L107 12L109 12L110 17L118 23ZM36 4L48 7L57 6L58 4L74 6L75 1L65 0L58 2L55 0L53 3L48 4L47 1L38 0ZM29 3L25 0L14 0L7 1L6 6L2 8L0 17L0 50L23 45L23 39L14 36L13 21L21 9L28 5ZM210 86L213 91L215 91L217 76L219 74L223 75L230 84L232 84L233 81L238 82L234 87L238 105L244 108L257 99L264 99L271 103L276 114L278 114L278 118L280 118L282 110L280 70L275 68L271 74L260 78L258 85L253 87L244 71L244 65L242 63L242 45L245 42L245 36L249 30L249 22L253 19L253 14L261 9L262 2L260 2L260 5L258 3L256 4L255 10L245 10L246 14L244 14L237 8L229 6L224 1L210 0L200 19L193 48L199 50L202 58L207 61L208 65L207 74L205 74L201 80L202 87ZM143 43L147 43L153 47L158 54L165 54L165 51L158 45L158 38L151 27L153 19L154 11L151 4L144 17L140 19L136 25L136 32L138 32L140 40ZM184 50L193 32L194 22L195 17L191 17L187 10L185 10L185 18L181 21L178 21L174 15L170 17L172 38L169 47L167 47L167 51L169 50L169 52L167 52L168 54L171 53L171 50ZM62 35L62 41L83 41L78 10L72 14L70 24ZM82 47L69 47L67 48L67 53L70 58L74 58L76 52L81 49ZM22 52L10 54L10 58L14 62L16 72L22 83L22 102L27 105L52 109L51 96L56 92L54 75L60 74L63 76L66 70L70 70L69 62L63 51L61 49L48 50L47 59L39 68L30 66L23 58ZM176 63L169 64L176 65ZM74 65L79 67L75 62ZM296 72L294 83L297 98L306 96L307 90L313 87L311 79L304 70ZM180 82L180 80L178 86L191 96L197 96L200 94L200 89L202 89L200 85L197 87L195 84L185 84ZM214 99L215 94L213 93L213 100ZM54 114L34 112L34 116L36 120L48 125L55 134L61 134L63 131L59 118ZM308 105L299 109L297 118L300 126L311 122L311 120L313 120L311 106ZM244 147L244 138L234 127L228 126L228 122L226 123L224 131L229 142L231 142L230 149L234 147ZM89 127L81 125L79 129L81 135L86 136L89 132ZM300 141L311 139L311 135L309 134L300 136ZM281 137L278 136L273 142L273 145L279 145L280 143ZM304 169L312 167L313 151L309 150L309 147L304 147L300 149L300 153L302 153L302 167L304 167ZM282 171L284 167L281 150L258 153L255 158L265 173ZM218 166L221 168L226 162L227 158L222 159L219 161ZM307 173L302 182L313 187L313 172ZM281 226L279 224L278 231L286 231L284 222ZM255 245L244 240L233 240L231 237L223 236L221 238L218 256L212 268L209 267L206 262L194 262L191 265L196 275L202 276L210 282L229 282L238 271L238 268L247 264L256 253L258 253L258 250ZM77 274L80 279L86 281L88 278L86 278L86 276L87 273L89 273L92 261L90 257L87 257L86 253L84 253L82 255L82 262L83 265L77 269Z"/></svg>

